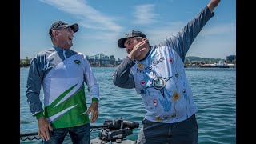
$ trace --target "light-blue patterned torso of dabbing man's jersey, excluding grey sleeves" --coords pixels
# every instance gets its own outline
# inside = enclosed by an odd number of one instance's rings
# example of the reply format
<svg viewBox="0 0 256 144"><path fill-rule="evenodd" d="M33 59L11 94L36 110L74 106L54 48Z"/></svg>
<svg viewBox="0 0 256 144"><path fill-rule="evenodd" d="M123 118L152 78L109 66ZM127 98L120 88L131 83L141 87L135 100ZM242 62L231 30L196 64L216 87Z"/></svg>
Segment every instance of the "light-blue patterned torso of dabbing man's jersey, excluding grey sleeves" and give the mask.
<svg viewBox="0 0 256 144"><path fill-rule="evenodd" d="M186 79L182 58L173 46L155 46L131 68L134 85L152 122L181 122L198 108Z"/></svg>

